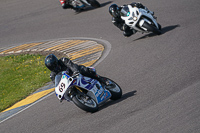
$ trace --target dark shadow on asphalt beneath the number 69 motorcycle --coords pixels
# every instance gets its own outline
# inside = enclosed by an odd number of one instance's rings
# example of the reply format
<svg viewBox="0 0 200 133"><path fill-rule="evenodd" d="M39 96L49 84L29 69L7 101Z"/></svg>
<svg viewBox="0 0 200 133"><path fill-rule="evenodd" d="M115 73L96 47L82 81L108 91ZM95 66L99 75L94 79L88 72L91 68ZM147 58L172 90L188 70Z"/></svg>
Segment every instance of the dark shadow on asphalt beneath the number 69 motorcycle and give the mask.
<svg viewBox="0 0 200 133"><path fill-rule="evenodd" d="M113 104L119 103L119 102L121 102L121 101L123 101L123 100L125 100L125 99L127 99L129 97L132 97L132 96L136 95L135 94L136 92L137 91L134 90L134 91L128 92L126 94L123 94L122 97L120 99L118 99L118 100L109 100L108 102L106 102L105 104L103 104L102 106L99 107L99 111L104 109L104 108L107 108L108 106L111 106Z"/></svg>

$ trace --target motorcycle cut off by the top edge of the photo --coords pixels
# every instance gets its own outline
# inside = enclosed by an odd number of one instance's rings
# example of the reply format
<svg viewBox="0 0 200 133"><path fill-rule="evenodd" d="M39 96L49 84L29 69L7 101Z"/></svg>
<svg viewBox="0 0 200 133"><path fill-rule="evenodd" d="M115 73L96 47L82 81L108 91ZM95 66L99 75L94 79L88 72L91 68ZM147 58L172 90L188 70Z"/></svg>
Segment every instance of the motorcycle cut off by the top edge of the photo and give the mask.
<svg viewBox="0 0 200 133"><path fill-rule="evenodd" d="M77 9L84 9L85 7L100 7L97 0L70 0L69 3Z"/></svg>

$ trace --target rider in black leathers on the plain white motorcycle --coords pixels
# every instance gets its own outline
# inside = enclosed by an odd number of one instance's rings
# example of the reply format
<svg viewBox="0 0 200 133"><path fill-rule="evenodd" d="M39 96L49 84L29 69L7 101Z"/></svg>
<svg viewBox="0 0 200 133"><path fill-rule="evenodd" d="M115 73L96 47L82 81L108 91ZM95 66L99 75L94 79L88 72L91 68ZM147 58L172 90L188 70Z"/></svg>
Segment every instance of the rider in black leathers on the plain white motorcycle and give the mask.
<svg viewBox="0 0 200 133"><path fill-rule="evenodd" d="M133 2L131 4L132 7L142 8L150 12L152 15L154 15L154 12L148 10L144 5L142 5L140 2ZM109 7L109 13L112 16L112 23L118 27L121 31L123 31L123 35L125 37L130 37L131 35L135 34L137 31L134 29L130 29L128 25L125 24L125 21L121 19L121 14L123 10L127 8L127 5L118 6L117 4L112 4Z"/></svg>

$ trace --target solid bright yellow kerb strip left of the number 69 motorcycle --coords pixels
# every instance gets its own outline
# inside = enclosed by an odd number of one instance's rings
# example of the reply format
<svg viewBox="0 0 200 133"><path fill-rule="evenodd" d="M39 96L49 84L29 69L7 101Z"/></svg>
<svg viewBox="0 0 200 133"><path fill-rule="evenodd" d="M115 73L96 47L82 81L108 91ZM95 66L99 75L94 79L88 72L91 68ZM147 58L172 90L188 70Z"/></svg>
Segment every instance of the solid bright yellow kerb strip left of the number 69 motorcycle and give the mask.
<svg viewBox="0 0 200 133"><path fill-rule="evenodd" d="M28 96L27 98L23 99L22 101L19 101L18 103L14 104L12 107L4 110L3 112L9 111L11 109L21 107L21 106L24 106L24 105L27 105L27 104L30 104L30 103L33 103L33 102L37 101L38 99L40 99L41 97L47 95L48 93L50 93L54 90L55 90L55 88L52 88L52 89L48 89L48 90L45 90L45 91L41 91L41 92L32 94L32 95Z"/></svg>

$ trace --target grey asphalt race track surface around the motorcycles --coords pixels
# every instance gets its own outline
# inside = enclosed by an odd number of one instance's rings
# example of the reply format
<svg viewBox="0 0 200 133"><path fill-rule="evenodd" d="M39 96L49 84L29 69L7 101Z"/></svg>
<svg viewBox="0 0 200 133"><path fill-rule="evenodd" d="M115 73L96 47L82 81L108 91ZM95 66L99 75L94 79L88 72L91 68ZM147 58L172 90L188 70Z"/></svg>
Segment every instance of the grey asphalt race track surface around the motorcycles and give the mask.
<svg viewBox="0 0 200 133"><path fill-rule="evenodd" d="M111 44L96 66L123 90L96 113L51 95L0 124L1 133L199 133L200 1L141 0L155 12L162 35L125 38L108 7L131 0L99 0L101 8L76 14L58 0L1 0L0 47L85 37ZM135 93L137 91L137 93Z"/></svg>

